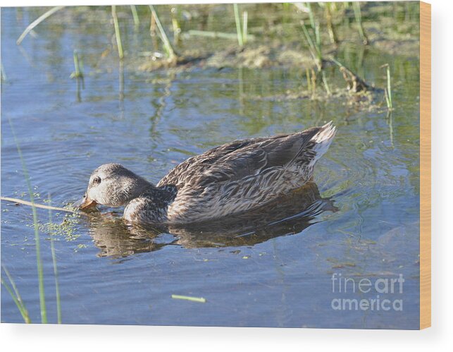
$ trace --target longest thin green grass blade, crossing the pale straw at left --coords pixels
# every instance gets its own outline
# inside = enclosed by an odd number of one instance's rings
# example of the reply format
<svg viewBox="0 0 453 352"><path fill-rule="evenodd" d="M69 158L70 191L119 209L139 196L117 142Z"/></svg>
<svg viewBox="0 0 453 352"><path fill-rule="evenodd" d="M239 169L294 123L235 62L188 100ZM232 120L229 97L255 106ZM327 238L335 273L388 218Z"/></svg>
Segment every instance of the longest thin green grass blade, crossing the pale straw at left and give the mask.
<svg viewBox="0 0 453 352"><path fill-rule="evenodd" d="M19 141L15 135L13 123L8 116L9 126L11 128L11 134L13 135L15 146L18 150L20 163L22 164L23 174L27 183L28 193L30 193L30 202L32 203L32 214L33 214L33 227L35 229L35 248L36 248L36 265L38 272L38 284L39 284L39 308L41 311L41 322L47 322L47 311L46 311L46 296L44 294L44 272L42 269L41 260L41 243L39 241L39 229L38 229L38 215L35 207L35 196L33 195L32 183L30 182L30 175L28 174L27 166L25 165L25 159L23 158L22 150L20 150Z"/></svg>

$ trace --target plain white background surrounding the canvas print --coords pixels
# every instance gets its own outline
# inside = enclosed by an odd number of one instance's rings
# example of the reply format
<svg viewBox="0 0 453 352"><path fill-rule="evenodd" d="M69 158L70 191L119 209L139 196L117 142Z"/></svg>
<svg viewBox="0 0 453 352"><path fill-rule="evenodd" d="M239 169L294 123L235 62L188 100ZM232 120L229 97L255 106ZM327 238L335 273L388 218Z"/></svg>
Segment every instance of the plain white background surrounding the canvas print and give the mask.
<svg viewBox="0 0 453 352"><path fill-rule="evenodd" d="M154 4L169 1L151 0ZM213 3L232 1L181 1ZM275 2L275 1L237 1ZM280 1L281 2L281 1ZM431 0L433 23L433 327L417 331L1 324L2 351L420 351L453 345L453 1ZM1 6L149 4L130 0L0 0ZM146 348L146 350L144 350Z"/></svg>

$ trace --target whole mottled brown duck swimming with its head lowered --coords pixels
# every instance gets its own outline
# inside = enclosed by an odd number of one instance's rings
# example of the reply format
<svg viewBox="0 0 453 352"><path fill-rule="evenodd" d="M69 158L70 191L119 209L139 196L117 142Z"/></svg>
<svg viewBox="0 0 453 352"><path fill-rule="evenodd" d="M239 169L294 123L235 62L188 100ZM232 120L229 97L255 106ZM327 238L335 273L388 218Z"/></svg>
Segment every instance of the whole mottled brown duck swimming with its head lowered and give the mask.
<svg viewBox="0 0 453 352"><path fill-rule="evenodd" d="M256 210L310 182L335 133L330 121L228 142L186 159L156 185L121 164L103 164L74 206L125 206L123 219L131 224L192 224Z"/></svg>

